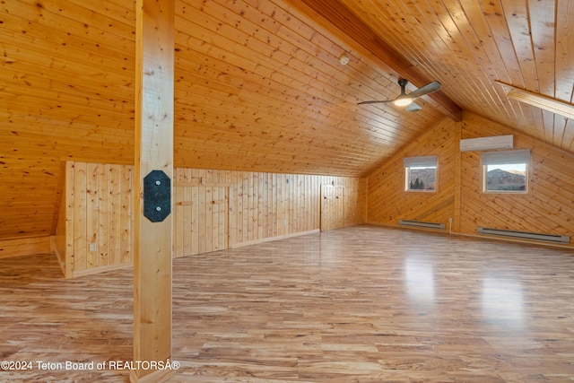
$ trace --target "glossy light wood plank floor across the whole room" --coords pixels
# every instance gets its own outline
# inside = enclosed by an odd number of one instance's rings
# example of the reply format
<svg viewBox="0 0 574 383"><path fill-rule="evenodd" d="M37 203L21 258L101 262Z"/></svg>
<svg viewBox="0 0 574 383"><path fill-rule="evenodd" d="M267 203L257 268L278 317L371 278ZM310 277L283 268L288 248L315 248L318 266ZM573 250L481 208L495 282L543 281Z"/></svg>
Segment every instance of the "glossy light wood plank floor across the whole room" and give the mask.
<svg viewBox="0 0 574 383"><path fill-rule="evenodd" d="M571 250L358 226L174 260L173 382L571 382ZM11 381L128 381L131 269L0 260Z"/></svg>

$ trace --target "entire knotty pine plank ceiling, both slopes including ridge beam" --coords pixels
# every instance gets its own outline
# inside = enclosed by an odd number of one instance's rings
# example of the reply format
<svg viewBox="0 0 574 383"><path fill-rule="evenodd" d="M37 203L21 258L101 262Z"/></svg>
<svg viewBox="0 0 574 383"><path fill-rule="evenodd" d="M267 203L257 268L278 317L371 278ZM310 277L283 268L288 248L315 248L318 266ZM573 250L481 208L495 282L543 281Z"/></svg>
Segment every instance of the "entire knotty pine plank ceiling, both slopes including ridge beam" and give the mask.
<svg viewBox="0 0 574 383"><path fill-rule="evenodd" d="M468 110L574 152L574 0L176 0L175 165L365 176ZM0 239L55 231L62 161L132 163L134 0L0 4ZM338 58L346 54L348 65ZM432 80L408 113L387 100Z"/></svg>

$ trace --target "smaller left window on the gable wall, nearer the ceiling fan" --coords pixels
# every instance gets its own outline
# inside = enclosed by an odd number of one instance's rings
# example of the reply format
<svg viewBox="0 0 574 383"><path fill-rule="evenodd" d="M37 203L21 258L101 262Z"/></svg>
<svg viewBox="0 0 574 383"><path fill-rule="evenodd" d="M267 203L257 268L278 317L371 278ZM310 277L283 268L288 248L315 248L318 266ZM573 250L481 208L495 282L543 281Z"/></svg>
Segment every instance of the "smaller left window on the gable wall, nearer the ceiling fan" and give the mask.
<svg viewBox="0 0 574 383"><path fill-rule="evenodd" d="M405 157L404 190L435 191L437 188L437 156Z"/></svg>

